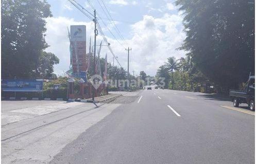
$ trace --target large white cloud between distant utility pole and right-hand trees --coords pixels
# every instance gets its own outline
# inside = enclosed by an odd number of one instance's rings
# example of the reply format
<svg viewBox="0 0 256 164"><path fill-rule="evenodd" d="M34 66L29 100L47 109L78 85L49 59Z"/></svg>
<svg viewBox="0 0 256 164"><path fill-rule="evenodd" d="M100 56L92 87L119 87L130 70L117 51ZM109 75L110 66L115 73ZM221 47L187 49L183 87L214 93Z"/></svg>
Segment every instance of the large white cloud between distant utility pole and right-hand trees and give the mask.
<svg viewBox="0 0 256 164"><path fill-rule="evenodd" d="M167 57L184 56L177 51L185 34L182 32L182 18L178 15L165 14L162 18L145 15L143 20L132 25L132 48L135 52L136 71L144 70L155 75L158 67L164 64Z"/></svg>

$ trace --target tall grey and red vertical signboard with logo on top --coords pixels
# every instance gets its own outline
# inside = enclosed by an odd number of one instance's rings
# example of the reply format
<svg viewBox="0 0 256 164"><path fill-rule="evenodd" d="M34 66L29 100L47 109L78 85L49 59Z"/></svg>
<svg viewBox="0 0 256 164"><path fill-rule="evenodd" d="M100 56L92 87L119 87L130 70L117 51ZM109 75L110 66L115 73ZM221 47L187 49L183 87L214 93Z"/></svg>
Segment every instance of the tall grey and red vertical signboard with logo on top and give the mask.
<svg viewBox="0 0 256 164"><path fill-rule="evenodd" d="M72 25L70 29L73 76L86 80L86 26Z"/></svg>

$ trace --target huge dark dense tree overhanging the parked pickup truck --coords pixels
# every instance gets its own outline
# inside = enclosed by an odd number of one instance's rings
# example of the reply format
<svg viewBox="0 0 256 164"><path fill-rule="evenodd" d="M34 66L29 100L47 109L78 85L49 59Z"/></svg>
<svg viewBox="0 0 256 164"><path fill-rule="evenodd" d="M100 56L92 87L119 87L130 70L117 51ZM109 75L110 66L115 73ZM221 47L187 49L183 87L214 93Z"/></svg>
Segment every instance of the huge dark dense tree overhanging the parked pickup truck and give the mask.
<svg viewBox="0 0 256 164"><path fill-rule="evenodd" d="M254 4L249 0L177 0L184 12L189 52L201 73L222 87L235 88L254 72Z"/></svg>

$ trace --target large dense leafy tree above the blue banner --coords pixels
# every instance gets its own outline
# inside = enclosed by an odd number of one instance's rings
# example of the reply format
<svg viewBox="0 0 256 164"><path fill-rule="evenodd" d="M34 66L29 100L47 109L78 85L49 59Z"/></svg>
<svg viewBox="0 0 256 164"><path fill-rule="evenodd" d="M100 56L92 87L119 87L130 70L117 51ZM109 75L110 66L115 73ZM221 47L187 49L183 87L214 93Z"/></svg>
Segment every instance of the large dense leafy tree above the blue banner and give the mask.
<svg viewBox="0 0 256 164"><path fill-rule="evenodd" d="M45 18L52 16L50 5L46 0L3 0L1 5L2 77L35 77L47 47Z"/></svg>

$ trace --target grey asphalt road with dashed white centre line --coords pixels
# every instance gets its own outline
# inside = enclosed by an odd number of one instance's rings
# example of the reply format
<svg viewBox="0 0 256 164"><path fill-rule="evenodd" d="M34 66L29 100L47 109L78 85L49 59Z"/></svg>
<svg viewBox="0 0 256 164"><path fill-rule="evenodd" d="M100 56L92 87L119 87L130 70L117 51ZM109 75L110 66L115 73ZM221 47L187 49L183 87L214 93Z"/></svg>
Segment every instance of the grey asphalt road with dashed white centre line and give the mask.
<svg viewBox="0 0 256 164"><path fill-rule="evenodd" d="M245 106L153 89L116 107L50 163L254 163L254 153L254 112Z"/></svg>

